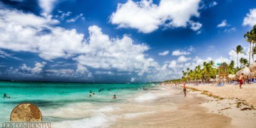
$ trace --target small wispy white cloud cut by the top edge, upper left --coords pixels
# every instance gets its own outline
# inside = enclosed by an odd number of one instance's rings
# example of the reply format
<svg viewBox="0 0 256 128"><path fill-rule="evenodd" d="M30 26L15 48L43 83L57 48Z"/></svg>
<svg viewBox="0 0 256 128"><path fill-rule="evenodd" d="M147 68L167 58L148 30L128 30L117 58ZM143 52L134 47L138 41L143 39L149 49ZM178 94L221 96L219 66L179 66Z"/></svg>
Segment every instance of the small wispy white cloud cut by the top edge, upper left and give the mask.
<svg viewBox="0 0 256 128"><path fill-rule="evenodd" d="M51 13L54 8L54 4L58 0L38 0L38 1L39 1L39 6L42 8L44 13Z"/></svg>

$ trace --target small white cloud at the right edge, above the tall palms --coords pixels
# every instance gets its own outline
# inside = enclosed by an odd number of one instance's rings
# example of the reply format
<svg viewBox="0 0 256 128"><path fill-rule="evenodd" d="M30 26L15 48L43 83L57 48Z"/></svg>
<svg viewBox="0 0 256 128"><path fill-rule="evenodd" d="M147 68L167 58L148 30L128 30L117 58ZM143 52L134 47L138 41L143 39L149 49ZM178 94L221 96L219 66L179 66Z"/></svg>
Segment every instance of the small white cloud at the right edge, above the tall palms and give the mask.
<svg viewBox="0 0 256 128"><path fill-rule="evenodd" d="M243 26L254 26L256 24L256 8L250 9L243 20Z"/></svg>

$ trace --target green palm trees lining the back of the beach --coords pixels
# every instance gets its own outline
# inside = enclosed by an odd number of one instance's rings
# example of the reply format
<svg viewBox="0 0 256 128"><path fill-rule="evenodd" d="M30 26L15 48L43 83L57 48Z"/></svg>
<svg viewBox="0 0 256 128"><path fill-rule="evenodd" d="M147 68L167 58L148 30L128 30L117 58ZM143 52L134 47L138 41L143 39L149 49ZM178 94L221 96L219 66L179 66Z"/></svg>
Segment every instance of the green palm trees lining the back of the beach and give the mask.
<svg viewBox="0 0 256 128"><path fill-rule="evenodd" d="M225 65L228 67L228 74L236 74L237 71L241 70L244 67L248 67L250 65L250 59L252 54L252 60L254 61L253 55L256 54L256 25L253 26L251 31L248 31L244 34L244 38L246 42L250 43L250 51L249 51L249 60L245 58L240 58L240 67L238 67L238 54L244 54L244 48L241 45L237 45L236 49L233 49L237 54L237 67L235 68L234 61L232 60L230 64L221 63L221 65ZM190 68L186 68L186 70L182 70L182 77L180 79L172 79L166 80L166 83L180 83L182 81L202 81L208 82L210 79L215 79L218 74L217 67L214 66L214 61L204 62L203 65L197 65L193 70Z"/></svg>

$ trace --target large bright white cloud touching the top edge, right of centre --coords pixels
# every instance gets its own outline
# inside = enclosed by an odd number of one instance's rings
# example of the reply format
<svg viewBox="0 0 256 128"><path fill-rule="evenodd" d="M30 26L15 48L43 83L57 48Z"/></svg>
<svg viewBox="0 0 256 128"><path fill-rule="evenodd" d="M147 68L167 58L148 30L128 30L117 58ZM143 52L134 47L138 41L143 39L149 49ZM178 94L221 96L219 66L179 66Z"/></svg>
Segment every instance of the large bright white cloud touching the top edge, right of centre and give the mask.
<svg viewBox="0 0 256 128"><path fill-rule="evenodd" d="M191 17L199 17L199 3L200 0L161 0L157 5L152 0L129 0L127 3L118 4L110 22L118 24L118 28L134 28L143 33L151 33L159 26L186 27ZM200 23L195 26L199 28ZM196 29L195 26L193 29Z"/></svg>

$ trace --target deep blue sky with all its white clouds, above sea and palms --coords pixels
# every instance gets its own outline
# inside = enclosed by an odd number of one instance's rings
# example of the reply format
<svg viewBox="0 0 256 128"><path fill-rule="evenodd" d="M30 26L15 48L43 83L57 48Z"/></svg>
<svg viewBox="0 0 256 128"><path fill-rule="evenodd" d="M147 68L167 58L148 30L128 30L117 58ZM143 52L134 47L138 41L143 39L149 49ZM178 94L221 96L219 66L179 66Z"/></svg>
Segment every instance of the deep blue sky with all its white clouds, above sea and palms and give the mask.
<svg viewBox="0 0 256 128"><path fill-rule="evenodd" d="M0 79L130 83L177 79L232 51L256 1L2 0Z"/></svg>

